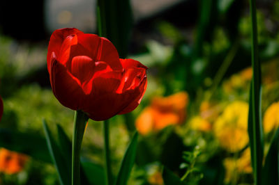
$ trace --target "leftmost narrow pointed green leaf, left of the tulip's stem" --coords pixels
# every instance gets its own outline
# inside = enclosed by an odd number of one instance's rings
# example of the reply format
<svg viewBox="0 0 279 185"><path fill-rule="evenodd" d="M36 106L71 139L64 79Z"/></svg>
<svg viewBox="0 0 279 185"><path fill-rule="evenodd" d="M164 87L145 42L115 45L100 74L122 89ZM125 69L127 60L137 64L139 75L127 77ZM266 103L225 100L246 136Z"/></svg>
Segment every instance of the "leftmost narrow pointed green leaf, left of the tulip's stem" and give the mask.
<svg viewBox="0 0 279 185"><path fill-rule="evenodd" d="M45 120L43 120L43 129L45 131L45 138L47 140L47 147L50 151L50 156L52 157L52 161L54 162L54 166L58 172L59 175L59 182L60 184L71 184L70 177L71 175L68 173L68 170L66 169L67 163L63 159L63 156L59 150L58 145L56 145L56 142L50 133L50 129L47 127L47 123Z"/></svg>

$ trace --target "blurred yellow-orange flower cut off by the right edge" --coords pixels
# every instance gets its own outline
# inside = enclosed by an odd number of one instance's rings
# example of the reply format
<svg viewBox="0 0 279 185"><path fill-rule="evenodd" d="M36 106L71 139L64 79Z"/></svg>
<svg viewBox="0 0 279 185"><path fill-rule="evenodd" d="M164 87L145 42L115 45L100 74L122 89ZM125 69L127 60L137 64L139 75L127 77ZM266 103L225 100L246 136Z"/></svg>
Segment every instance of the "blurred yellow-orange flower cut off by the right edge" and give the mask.
<svg viewBox="0 0 279 185"><path fill-rule="evenodd" d="M275 102L264 113L264 133L269 133L279 125L279 102Z"/></svg>

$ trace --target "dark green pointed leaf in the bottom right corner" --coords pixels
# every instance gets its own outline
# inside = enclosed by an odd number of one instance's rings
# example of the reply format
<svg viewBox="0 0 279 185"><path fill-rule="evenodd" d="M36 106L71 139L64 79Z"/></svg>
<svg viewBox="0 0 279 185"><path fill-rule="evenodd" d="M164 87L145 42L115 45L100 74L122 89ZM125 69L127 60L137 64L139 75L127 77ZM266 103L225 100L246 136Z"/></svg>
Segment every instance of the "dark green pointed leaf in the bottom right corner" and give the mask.
<svg viewBox="0 0 279 185"><path fill-rule="evenodd" d="M279 128L273 136L262 172L262 184L279 184Z"/></svg>

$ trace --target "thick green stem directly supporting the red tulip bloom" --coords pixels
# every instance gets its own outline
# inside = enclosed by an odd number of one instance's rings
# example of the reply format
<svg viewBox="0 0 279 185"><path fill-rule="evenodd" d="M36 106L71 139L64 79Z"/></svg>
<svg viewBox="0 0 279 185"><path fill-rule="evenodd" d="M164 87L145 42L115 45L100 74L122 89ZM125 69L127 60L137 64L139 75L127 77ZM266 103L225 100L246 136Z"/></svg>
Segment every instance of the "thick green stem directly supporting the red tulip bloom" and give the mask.
<svg viewBox="0 0 279 185"><path fill-rule="evenodd" d="M72 147L72 185L80 185L80 149L88 116L82 111L75 111Z"/></svg>

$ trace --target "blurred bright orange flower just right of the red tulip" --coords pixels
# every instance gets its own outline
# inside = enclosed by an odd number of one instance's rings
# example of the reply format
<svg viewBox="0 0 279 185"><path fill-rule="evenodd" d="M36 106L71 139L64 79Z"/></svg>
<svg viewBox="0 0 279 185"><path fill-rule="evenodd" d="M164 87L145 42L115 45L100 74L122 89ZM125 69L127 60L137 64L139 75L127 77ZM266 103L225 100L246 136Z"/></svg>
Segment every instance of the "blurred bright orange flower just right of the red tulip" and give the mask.
<svg viewBox="0 0 279 185"><path fill-rule="evenodd" d="M144 108L136 120L137 130L141 134L158 131L170 124L181 124L186 119L188 94L176 93L169 97L154 97L151 106Z"/></svg>

